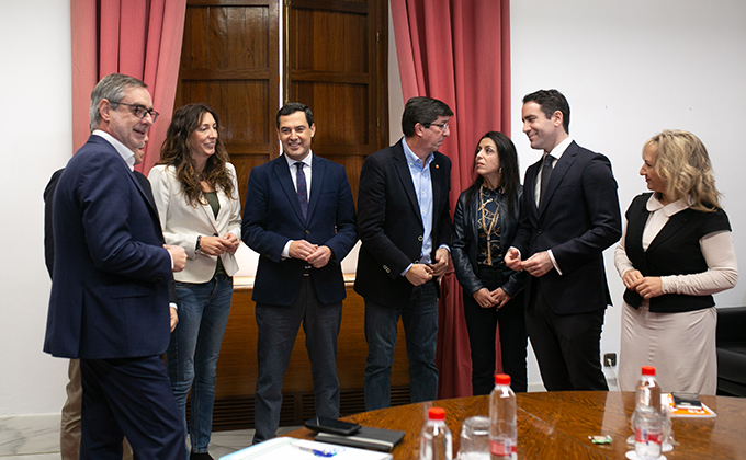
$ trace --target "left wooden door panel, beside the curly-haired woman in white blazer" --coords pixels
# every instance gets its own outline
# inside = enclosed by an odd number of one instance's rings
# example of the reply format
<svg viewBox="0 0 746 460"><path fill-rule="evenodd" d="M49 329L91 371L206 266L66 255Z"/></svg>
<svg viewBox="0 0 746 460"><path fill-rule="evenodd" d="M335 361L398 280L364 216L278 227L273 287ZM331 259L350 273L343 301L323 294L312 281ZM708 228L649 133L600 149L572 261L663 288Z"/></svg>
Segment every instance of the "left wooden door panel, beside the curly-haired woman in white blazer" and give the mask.
<svg viewBox="0 0 746 460"><path fill-rule="evenodd" d="M275 158L280 100L276 0L188 2L177 106L211 105L236 166L241 204L251 168Z"/></svg>

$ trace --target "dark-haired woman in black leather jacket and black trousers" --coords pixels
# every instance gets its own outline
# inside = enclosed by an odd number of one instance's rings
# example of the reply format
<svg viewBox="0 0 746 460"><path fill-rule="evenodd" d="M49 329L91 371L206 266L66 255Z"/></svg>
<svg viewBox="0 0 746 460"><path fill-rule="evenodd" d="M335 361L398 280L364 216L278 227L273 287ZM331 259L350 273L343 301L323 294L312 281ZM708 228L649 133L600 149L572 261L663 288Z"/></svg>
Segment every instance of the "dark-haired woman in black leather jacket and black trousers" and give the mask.
<svg viewBox="0 0 746 460"><path fill-rule="evenodd" d="M518 230L523 188L518 156L502 133L479 139L474 183L462 192L453 216L451 256L464 291L464 317L472 348L472 390L495 386L496 331L500 327L502 371L513 391L525 391L524 273L505 266L505 251Z"/></svg>

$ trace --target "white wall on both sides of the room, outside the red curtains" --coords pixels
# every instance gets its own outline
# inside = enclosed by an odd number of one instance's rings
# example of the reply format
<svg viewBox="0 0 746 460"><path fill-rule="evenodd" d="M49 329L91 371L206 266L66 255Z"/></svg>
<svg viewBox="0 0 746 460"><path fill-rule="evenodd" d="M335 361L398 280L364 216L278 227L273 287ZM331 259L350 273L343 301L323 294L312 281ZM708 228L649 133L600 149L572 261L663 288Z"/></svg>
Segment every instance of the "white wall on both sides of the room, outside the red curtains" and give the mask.
<svg viewBox="0 0 746 460"><path fill-rule="evenodd" d="M732 145L739 140L746 102L744 31L746 3L741 0L513 1L512 138L522 169L539 153L520 131L520 99L540 88L563 91L575 139L609 156L623 209L644 191L637 176L643 142L664 128L691 130L710 150L738 258L745 260L746 215L738 197L746 185L738 169L746 160L739 142ZM64 401L65 361L42 353L49 291L42 192L71 153L69 34L66 1L3 4L0 416L58 412ZM392 114L394 140L399 118L400 112ZM622 285L608 255L619 306ZM742 283L716 300L744 304L745 292ZM619 350L619 311L607 313L604 352ZM538 375L530 379L536 382Z"/></svg>

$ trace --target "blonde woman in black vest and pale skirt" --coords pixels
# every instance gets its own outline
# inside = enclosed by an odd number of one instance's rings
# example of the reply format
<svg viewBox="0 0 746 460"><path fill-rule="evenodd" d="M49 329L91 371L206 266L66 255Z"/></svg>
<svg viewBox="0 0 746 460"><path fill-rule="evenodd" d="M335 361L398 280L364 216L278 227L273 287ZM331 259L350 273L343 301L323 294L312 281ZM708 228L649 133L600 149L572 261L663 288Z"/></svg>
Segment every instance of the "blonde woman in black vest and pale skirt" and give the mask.
<svg viewBox="0 0 746 460"><path fill-rule="evenodd" d="M697 136L664 130L645 142L643 160L653 193L632 200L614 253L626 287L619 387L634 391L641 366L651 365L664 391L715 394L712 295L738 278L731 225Z"/></svg>

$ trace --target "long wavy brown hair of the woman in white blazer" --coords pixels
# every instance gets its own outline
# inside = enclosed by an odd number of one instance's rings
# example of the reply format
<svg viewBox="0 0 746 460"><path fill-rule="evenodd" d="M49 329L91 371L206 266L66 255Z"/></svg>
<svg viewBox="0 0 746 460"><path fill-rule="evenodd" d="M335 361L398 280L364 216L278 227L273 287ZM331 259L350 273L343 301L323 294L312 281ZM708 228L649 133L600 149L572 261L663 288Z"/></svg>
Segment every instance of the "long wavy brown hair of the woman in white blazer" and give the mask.
<svg viewBox="0 0 746 460"><path fill-rule="evenodd" d="M217 114L207 104L187 104L177 108L173 119L166 133L166 141L160 148L160 161L158 164L168 164L176 169L177 179L181 182L187 199L192 206L197 203L207 204L202 192L202 184L194 169L194 160L189 151L189 137L196 130L202 123L204 114L210 113L215 118L215 124L221 126ZM215 153L210 156L201 179L210 184L211 187L218 187L226 195L233 197L233 177L228 173L225 164L229 161L228 152L223 145L222 136L217 136L215 141Z"/></svg>

